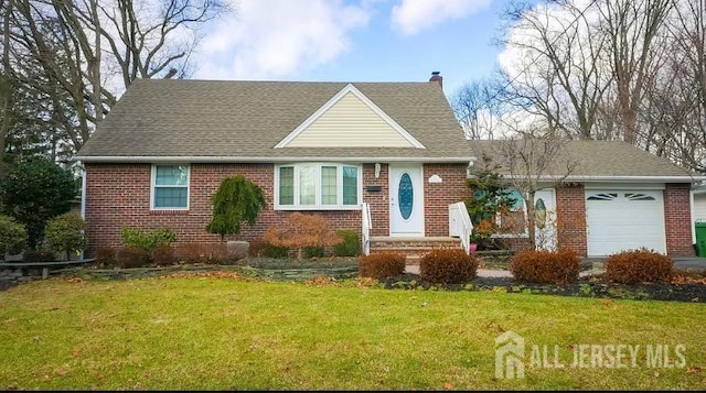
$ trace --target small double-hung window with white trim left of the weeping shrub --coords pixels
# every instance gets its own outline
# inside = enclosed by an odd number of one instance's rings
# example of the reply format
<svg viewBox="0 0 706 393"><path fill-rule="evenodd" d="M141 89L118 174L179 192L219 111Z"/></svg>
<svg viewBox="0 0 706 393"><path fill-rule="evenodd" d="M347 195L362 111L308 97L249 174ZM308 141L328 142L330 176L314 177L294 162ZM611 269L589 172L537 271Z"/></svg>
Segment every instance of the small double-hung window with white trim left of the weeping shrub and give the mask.
<svg viewBox="0 0 706 393"><path fill-rule="evenodd" d="M151 208L189 209L189 165L152 165Z"/></svg>

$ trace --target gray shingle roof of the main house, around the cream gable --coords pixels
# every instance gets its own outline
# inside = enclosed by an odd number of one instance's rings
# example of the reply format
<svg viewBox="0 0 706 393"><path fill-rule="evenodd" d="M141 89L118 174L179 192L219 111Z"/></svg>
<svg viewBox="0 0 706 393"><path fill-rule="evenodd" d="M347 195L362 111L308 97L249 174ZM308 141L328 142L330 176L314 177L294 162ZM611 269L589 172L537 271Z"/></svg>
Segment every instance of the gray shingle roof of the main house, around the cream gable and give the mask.
<svg viewBox="0 0 706 393"><path fill-rule="evenodd" d="M427 149L274 146L346 83L136 80L78 152L100 157L469 161L463 133L436 83L353 83ZM105 161L105 160L103 160Z"/></svg>

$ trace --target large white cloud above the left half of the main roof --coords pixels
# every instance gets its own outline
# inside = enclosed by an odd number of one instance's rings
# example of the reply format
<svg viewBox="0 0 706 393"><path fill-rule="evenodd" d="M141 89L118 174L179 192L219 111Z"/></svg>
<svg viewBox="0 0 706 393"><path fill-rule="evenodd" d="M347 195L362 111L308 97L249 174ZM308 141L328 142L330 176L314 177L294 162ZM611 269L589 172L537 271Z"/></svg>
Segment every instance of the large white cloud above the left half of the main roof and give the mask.
<svg viewBox="0 0 706 393"><path fill-rule="evenodd" d="M204 79L275 79L325 64L350 47L347 34L367 24L367 6L342 0L239 0L200 46Z"/></svg>

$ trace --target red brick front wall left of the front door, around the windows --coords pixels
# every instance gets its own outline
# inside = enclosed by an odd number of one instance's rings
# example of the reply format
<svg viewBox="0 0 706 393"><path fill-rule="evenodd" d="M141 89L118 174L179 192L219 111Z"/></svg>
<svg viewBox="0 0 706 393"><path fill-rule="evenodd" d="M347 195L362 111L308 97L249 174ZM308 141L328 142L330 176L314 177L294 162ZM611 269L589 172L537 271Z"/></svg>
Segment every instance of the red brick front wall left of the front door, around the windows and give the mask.
<svg viewBox="0 0 706 393"><path fill-rule="evenodd" d="M370 168L363 168L364 176ZM217 234L205 231L211 220L211 196L227 176L244 175L265 192L267 207L254 227L243 225L237 239L260 237L270 225L282 222L291 211L274 210L272 164L192 164L189 210L150 210L151 165L86 164L86 233L88 253L96 247L119 245L120 228L170 227L178 242L216 243ZM360 210L308 211L330 218L334 229L361 229ZM235 240L236 237L227 237Z"/></svg>

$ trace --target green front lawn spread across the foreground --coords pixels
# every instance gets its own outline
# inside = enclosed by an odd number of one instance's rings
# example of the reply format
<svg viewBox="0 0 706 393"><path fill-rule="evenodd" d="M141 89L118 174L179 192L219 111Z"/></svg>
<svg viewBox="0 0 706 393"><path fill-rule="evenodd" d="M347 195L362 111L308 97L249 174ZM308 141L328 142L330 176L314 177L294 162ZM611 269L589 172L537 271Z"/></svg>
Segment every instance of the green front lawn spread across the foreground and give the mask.
<svg viewBox="0 0 706 393"><path fill-rule="evenodd" d="M704 304L57 277L0 293L0 389L704 389ZM526 341L523 379L495 379L505 330ZM531 367L535 345L565 368ZM637 367L573 368L581 345L640 346ZM648 346L668 346L662 368Z"/></svg>

